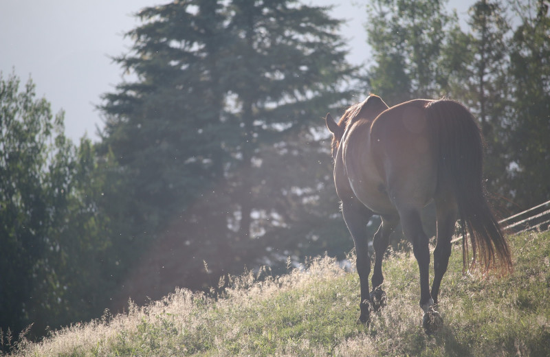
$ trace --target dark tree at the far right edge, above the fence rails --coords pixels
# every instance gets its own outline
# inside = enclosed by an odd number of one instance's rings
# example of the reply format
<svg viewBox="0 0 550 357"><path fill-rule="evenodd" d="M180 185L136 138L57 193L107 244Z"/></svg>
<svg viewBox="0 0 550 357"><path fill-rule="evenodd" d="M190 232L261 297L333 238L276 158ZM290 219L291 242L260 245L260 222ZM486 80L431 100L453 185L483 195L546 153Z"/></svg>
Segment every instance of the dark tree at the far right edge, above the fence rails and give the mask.
<svg viewBox="0 0 550 357"><path fill-rule="evenodd" d="M513 102L509 130L509 192L526 209L550 199L549 3L520 3L521 23L511 38Z"/></svg>

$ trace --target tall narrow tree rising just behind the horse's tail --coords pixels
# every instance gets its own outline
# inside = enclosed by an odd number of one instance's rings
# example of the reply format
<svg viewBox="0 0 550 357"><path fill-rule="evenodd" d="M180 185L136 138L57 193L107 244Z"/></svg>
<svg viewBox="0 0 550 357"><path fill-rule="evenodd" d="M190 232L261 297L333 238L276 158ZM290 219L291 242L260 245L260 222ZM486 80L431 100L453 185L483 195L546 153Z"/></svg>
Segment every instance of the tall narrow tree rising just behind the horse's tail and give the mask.
<svg viewBox="0 0 550 357"><path fill-rule="evenodd" d="M469 32L459 27L451 32L441 62L448 71L449 94L466 104L479 120L485 137L485 177L495 198L507 196L507 133L505 120L509 91L507 34L509 21L498 1L480 0L469 10Z"/></svg>

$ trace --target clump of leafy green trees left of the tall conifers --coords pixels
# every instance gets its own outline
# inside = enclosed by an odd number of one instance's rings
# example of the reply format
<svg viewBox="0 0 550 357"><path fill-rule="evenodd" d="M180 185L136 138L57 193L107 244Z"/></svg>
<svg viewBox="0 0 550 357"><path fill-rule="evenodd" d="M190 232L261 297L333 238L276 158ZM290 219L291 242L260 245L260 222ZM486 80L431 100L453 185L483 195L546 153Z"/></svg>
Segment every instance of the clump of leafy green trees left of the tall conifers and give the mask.
<svg viewBox="0 0 550 357"><path fill-rule="evenodd" d="M115 181L87 139L67 140L63 120L32 80L21 89L0 76L0 328L16 336L100 314L115 286L101 207Z"/></svg>

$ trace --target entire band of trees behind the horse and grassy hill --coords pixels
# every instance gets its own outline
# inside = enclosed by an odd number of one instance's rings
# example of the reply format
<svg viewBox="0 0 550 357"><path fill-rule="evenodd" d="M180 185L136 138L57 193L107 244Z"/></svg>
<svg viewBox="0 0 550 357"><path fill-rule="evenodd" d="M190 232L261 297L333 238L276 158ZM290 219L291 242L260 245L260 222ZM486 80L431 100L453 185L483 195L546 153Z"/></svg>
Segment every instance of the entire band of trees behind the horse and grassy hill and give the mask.
<svg viewBox="0 0 550 357"><path fill-rule="evenodd" d="M465 30L445 5L372 1L362 88L327 8L145 8L115 58L132 76L102 98L98 143L70 142L32 82L0 78L3 332L34 323L43 334L175 286L208 290L244 266L344 257L353 243L321 118L368 91L390 105L464 102L503 214L550 199L547 1L478 1Z"/></svg>

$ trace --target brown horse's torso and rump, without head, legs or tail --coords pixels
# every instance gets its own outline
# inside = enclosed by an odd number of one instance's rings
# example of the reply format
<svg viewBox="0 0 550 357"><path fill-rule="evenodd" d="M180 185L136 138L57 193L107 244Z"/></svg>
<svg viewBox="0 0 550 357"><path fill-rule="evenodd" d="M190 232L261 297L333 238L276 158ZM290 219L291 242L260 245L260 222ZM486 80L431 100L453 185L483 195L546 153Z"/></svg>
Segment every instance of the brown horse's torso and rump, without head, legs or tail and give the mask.
<svg viewBox="0 0 550 357"><path fill-rule="evenodd" d="M342 157L336 159L337 165L342 162L347 180L337 179L337 187L347 187L349 181L353 195L375 214L397 214L397 207L406 204L427 205L437 187L437 157L432 150L437 143L420 109L429 102L399 104L375 118L357 119L347 128Z"/></svg>

